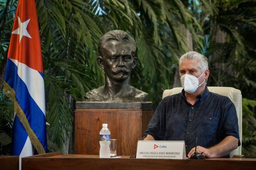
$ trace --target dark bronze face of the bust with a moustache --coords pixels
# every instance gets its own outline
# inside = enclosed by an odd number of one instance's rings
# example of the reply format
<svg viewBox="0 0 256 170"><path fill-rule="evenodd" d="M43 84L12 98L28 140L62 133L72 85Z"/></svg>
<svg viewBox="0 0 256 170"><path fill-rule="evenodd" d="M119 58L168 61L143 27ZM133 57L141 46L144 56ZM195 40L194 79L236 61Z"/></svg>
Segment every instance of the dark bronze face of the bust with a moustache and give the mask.
<svg viewBox="0 0 256 170"><path fill-rule="evenodd" d="M134 46L127 39L123 39L121 42L110 40L106 43L103 65L105 74L109 78L123 81L131 75L132 69L137 64L133 49Z"/></svg>

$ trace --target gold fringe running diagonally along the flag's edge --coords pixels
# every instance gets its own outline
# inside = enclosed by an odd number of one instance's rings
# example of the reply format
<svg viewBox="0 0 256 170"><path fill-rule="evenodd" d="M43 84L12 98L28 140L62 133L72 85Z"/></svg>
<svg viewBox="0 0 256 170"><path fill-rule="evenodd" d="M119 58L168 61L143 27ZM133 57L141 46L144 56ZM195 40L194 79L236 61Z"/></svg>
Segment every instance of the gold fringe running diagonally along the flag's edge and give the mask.
<svg viewBox="0 0 256 170"><path fill-rule="evenodd" d="M34 131L31 129L29 125L29 121L27 121L27 117L23 110L20 108L18 102L15 98L15 91L11 88L10 85L7 84L7 82L4 81L4 88L3 88L4 94L9 97L12 102L14 103L14 111L16 115L19 117L20 122L23 124L27 134L29 135L29 139L37 152L39 154L45 154L44 147L42 146L42 143L39 141L37 136L35 135Z"/></svg>

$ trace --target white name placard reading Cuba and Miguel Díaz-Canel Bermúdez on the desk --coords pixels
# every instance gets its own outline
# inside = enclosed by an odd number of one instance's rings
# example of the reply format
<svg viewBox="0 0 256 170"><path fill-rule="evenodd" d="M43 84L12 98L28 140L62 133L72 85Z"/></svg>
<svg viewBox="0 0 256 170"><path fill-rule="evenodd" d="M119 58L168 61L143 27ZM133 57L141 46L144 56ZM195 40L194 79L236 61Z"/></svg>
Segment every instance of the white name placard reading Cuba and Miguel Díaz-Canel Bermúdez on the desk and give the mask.
<svg viewBox="0 0 256 170"><path fill-rule="evenodd" d="M186 159L184 141L139 140L136 158L140 159Z"/></svg>

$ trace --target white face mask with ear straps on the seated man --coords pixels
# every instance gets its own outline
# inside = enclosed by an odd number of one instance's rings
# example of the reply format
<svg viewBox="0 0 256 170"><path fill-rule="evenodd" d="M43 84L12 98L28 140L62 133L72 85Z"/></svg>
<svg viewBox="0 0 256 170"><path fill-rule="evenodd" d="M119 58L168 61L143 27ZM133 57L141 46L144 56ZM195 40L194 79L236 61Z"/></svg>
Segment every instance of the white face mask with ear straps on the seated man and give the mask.
<svg viewBox="0 0 256 170"><path fill-rule="evenodd" d="M204 74L204 72L201 74L201 76ZM200 76L200 77L201 77ZM196 91L196 89L202 85L204 83L204 81L200 84L199 84L199 81L198 79L200 77L196 77L196 76L192 76L190 74L184 74L180 77L180 81L181 81L181 85L182 87L184 88L185 92L188 92L188 93L193 93Z"/></svg>

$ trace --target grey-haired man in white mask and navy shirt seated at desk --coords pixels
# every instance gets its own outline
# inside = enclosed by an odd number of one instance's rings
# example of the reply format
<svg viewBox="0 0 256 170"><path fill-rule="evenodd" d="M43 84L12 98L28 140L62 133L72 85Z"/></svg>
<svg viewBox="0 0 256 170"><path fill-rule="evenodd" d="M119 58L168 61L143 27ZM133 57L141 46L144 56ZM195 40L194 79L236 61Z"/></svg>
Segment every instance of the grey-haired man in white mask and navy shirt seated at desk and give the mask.
<svg viewBox="0 0 256 170"><path fill-rule="evenodd" d="M144 140L184 140L186 154L206 158L229 157L240 146L236 108L225 96L209 92L207 58L190 51L180 58L182 92L165 97L158 105Z"/></svg>

